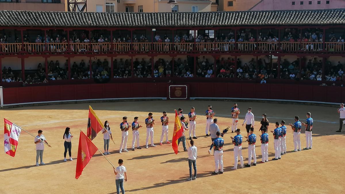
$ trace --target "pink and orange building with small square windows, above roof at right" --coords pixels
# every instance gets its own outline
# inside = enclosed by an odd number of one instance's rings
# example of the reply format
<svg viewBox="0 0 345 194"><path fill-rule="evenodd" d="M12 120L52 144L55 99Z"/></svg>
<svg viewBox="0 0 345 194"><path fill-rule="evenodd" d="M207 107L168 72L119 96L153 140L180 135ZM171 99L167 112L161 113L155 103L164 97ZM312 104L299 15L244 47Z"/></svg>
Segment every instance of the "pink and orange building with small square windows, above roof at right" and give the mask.
<svg viewBox="0 0 345 194"><path fill-rule="evenodd" d="M219 0L218 11L311 10L345 8L344 0Z"/></svg>

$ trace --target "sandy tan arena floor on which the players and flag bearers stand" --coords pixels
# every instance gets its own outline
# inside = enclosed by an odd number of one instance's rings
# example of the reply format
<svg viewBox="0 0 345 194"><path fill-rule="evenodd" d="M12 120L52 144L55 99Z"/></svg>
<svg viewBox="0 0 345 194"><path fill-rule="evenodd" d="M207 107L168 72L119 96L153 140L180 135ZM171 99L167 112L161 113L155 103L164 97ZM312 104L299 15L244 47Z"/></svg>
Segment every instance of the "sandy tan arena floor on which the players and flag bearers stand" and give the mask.
<svg viewBox="0 0 345 194"><path fill-rule="evenodd" d="M305 121L306 112L310 111L314 119L313 149L297 153L293 150L292 130L288 127L287 151L279 161L274 158L273 135L270 134L269 162L259 164L261 160L260 143L256 147L258 165L250 168L239 168L232 171L234 166L234 145L230 135L224 136L224 174L211 175L214 171L214 157L208 155L210 137L205 136L206 118L204 116L207 105L211 104L218 118L218 125L222 129L230 125L230 109L234 102L227 101L143 101L118 103L92 103L92 108L102 122L108 120L112 129L114 143L110 142L111 155L109 160L117 165L119 158L124 159L127 168L128 181L125 190L130 193L342 193L345 186L342 183L345 169L341 167L344 156L344 132L336 133L339 127L339 115L336 108L268 104L268 103L238 103L241 110L239 128L242 127L247 107L253 107L255 115L255 134L259 134L259 121L263 113L267 113L270 121L269 130L274 129L274 123L284 119L292 123L295 115ZM37 106L0 110L0 116L23 127L30 133L37 135L42 129L47 142L43 156L45 166L35 166L34 138L22 131L19 139L16 157L12 158L4 152L0 157L0 179L3 180L0 193L116 193L115 174L107 160L96 153L83 171L78 180L75 179L76 153L78 150L79 129L86 133L89 104L70 104L54 106ZM196 107L196 133L198 139L197 180L187 181L189 177L187 153L175 155L171 144L159 146L161 125L158 121L162 111L167 111L170 121L174 120L174 109L183 108L188 114L190 107ZM139 124L144 126L149 112L154 113L157 120L154 127L154 142L157 147L130 151L132 133L129 133L128 153L118 153L121 139L119 124L122 116L132 122L139 116ZM3 126L3 120L0 120ZM71 128L72 157L70 162L63 162L63 132L66 127ZM169 127L169 138L172 138L172 124ZM2 129L3 130L3 129ZM141 128L140 145L145 147L146 128ZM345 131L345 129L344 129ZM186 132L187 134L188 132ZM246 135L246 133L242 133ZM188 135L187 135L188 136ZM103 139L99 134L93 143L102 151ZM305 147L304 130L301 133L301 145ZM188 145L187 145L188 146ZM247 143L243 144L245 164L248 161ZM179 150L182 151L180 144Z"/></svg>

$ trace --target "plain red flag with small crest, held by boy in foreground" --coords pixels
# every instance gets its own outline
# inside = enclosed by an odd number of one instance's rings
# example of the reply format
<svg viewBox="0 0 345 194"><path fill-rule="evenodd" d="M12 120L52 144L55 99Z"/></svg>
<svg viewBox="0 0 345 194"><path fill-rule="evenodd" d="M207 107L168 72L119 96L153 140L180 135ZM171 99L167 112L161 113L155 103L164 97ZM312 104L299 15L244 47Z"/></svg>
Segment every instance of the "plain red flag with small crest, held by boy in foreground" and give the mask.
<svg viewBox="0 0 345 194"><path fill-rule="evenodd" d="M77 167L76 167L76 179L79 178L83 169L89 163L93 154L97 152L98 148L91 142L91 140L80 131L78 156L77 156Z"/></svg>

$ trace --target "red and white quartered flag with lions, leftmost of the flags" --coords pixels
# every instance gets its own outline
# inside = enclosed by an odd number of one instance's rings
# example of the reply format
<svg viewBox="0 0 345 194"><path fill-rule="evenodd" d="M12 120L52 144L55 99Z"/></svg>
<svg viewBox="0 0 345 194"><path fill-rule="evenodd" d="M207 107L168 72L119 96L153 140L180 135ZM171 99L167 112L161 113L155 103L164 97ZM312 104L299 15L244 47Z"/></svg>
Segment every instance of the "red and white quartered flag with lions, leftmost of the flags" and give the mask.
<svg viewBox="0 0 345 194"><path fill-rule="evenodd" d="M3 144L5 148L5 153L14 157L17 151L21 128L18 125L11 123L9 120L5 118L3 120L5 124Z"/></svg>

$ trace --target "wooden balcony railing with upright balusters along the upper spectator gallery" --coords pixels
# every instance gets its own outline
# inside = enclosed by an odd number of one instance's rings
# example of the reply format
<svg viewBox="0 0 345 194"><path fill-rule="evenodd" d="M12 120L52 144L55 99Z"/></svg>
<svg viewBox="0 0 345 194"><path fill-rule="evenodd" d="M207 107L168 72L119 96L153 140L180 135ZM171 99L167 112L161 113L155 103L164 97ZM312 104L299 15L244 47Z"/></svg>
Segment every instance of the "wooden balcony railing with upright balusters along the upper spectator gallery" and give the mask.
<svg viewBox="0 0 345 194"><path fill-rule="evenodd" d="M18 52L199 52L218 51L275 51L283 52L345 52L345 42L134 42L134 43L0 43L0 53Z"/></svg>

